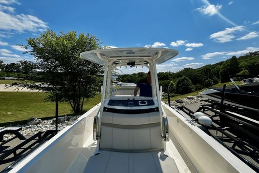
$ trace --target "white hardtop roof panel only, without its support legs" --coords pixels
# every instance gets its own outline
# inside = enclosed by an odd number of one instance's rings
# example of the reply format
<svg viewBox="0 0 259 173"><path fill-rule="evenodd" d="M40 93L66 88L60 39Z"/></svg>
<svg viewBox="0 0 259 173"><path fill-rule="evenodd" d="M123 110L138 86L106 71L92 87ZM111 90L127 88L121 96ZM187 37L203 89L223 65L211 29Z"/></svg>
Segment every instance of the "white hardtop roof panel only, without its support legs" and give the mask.
<svg viewBox="0 0 259 173"><path fill-rule="evenodd" d="M138 65L154 60L156 64L162 64L176 55L178 55L177 50L164 48L113 48L80 53L83 59L101 65L110 64L111 62L124 64L127 61L134 61Z"/></svg>

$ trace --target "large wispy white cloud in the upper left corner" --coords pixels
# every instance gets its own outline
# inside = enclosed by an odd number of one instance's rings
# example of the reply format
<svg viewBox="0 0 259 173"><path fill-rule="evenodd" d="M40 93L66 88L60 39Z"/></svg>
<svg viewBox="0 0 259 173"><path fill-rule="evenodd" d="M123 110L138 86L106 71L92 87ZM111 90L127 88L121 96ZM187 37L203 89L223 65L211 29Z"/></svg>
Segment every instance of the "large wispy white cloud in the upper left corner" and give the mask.
<svg viewBox="0 0 259 173"><path fill-rule="evenodd" d="M0 1L2 4L17 4L17 1ZM0 5L0 29L6 31L44 31L48 28L47 23L38 17L28 14L16 14L15 9Z"/></svg>

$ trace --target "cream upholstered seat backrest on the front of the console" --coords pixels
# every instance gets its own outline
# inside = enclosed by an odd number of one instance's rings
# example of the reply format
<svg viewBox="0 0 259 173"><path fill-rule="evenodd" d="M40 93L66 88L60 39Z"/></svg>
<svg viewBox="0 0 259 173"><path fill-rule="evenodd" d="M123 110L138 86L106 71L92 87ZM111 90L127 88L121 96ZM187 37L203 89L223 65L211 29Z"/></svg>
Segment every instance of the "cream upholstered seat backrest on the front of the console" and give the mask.
<svg viewBox="0 0 259 173"><path fill-rule="evenodd" d="M100 148L162 149L159 112L122 114L104 111L101 119Z"/></svg>

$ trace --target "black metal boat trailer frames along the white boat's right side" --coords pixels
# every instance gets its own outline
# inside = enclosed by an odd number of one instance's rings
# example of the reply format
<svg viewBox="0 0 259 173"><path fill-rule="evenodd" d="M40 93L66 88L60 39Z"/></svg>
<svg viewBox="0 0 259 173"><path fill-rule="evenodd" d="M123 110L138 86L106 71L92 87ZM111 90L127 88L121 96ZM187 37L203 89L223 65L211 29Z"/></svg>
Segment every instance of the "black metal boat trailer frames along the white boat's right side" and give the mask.
<svg viewBox="0 0 259 173"><path fill-rule="evenodd" d="M185 106L174 107L198 123L192 110ZM211 105L201 105L196 112L202 112L212 120L210 126L203 126L206 133L229 149L236 157L259 172L259 122L235 112L213 109Z"/></svg>

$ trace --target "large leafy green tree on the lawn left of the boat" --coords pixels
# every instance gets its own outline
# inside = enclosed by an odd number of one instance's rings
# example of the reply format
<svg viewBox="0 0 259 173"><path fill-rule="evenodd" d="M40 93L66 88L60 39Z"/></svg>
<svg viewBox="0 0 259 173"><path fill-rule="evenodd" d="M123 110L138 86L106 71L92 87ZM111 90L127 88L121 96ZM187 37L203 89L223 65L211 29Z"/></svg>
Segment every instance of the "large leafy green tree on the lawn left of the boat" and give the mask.
<svg viewBox="0 0 259 173"><path fill-rule="evenodd" d="M75 31L56 34L48 30L27 42L22 47L35 57L42 78L40 84L19 86L49 91L49 99L58 92L60 101L68 101L75 113L83 111L84 100L94 97L100 87L98 75L103 66L81 59L79 54L99 49L99 39L83 33L77 37Z"/></svg>

